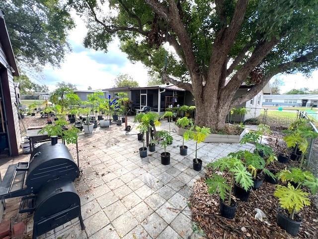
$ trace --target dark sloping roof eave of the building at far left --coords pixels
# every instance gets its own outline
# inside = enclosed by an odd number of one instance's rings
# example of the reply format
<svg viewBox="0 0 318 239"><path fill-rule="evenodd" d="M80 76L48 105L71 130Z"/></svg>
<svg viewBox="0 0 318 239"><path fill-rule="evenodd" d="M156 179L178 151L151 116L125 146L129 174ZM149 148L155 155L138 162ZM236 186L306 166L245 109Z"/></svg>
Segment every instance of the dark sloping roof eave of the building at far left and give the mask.
<svg viewBox="0 0 318 239"><path fill-rule="evenodd" d="M16 61L14 58L13 49L12 49L8 31L6 29L6 25L4 21L4 13L2 10L0 10L0 42L3 47L4 54L9 63L9 66L5 66L5 67L7 68L12 67L14 70L14 72L12 72L13 76L19 76L19 71L18 71Z"/></svg>

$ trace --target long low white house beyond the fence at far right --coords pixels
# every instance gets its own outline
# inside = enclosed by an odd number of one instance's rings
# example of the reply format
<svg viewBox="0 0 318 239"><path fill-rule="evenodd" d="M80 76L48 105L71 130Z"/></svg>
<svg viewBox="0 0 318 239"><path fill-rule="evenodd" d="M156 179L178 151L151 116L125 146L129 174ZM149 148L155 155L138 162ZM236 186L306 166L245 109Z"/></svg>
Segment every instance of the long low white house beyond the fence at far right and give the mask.
<svg viewBox="0 0 318 239"><path fill-rule="evenodd" d="M318 95L267 95L264 106L318 107Z"/></svg>

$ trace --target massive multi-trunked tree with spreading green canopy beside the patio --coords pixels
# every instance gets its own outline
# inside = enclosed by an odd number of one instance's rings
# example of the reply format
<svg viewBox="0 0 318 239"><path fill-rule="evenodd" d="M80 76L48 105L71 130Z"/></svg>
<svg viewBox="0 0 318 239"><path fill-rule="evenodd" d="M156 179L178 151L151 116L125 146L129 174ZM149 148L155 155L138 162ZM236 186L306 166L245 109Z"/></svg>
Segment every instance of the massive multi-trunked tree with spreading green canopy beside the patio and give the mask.
<svg viewBox="0 0 318 239"><path fill-rule="evenodd" d="M86 19L86 47L107 51L119 37L132 61L142 61L164 81L190 91L196 123L212 128L223 127L229 110L255 96L274 75L309 74L317 68L317 3L71 0ZM243 82L250 90L237 96Z"/></svg>

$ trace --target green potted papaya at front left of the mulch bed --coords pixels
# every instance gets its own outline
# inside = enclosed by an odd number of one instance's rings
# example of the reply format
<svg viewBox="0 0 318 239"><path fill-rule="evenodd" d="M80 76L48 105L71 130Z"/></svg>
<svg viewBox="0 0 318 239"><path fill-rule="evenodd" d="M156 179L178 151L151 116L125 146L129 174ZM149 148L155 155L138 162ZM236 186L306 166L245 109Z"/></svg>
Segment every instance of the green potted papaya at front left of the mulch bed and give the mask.
<svg viewBox="0 0 318 239"><path fill-rule="evenodd" d="M233 200L234 183L238 183L244 190L249 190L253 185L252 175L246 170L243 162L236 157L223 157L209 163L207 167L212 167L223 174L213 173L206 180L210 194L220 196L220 213L222 217L233 219L236 214L237 205ZM224 173L226 172L226 173ZM230 183L227 176L230 175Z"/></svg>

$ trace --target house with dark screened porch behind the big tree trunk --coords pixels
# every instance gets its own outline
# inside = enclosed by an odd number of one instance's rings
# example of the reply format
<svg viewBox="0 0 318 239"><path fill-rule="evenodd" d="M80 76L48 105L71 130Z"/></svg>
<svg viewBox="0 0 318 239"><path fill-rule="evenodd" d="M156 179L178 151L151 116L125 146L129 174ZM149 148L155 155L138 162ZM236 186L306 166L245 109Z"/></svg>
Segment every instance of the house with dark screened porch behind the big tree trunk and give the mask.
<svg viewBox="0 0 318 239"><path fill-rule="evenodd" d="M242 85L237 92L237 96L248 91L250 87ZM151 110L162 114L166 108L170 105L173 107L179 105L195 105L194 98L189 91L174 85L159 85L159 86L147 86L147 87L118 87L102 90L87 90L87 91L75 91L82 101L87 100L87 95L96 91L102 91L104 93L103 98L111 99L118 98L119 92L127 93L127 97L133 102L133 109L141 110L144 106L150 106ZM257 117L260 114L260 108L262 108L263 94L270 94L270 87L267 84L263 90L255 96L252 100L238 106L253 108L246 114L245 119Z"/></svg>

